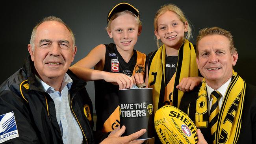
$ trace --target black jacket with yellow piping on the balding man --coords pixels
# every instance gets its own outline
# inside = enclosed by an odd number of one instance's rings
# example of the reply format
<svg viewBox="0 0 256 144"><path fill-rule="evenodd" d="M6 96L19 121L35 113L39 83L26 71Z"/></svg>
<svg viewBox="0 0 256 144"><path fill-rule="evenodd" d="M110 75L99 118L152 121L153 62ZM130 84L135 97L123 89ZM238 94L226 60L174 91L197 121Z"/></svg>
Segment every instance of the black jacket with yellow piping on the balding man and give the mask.
<svg viewBox="0 0 256 144"><path fill-rule="evenodd" d="M61 144L63 141L54 101L49 94L38 88L40 83L35 81L33 72L35 68L29 56L25 59L24 66L0 86L0 116L13 112L19 133L19 137L6 142ZM77 78L70 70L67 74L73 80L70 108L82 130L83 143L98 143L107 135L92 131L93 106L85 89L86 82Z"/></svg>

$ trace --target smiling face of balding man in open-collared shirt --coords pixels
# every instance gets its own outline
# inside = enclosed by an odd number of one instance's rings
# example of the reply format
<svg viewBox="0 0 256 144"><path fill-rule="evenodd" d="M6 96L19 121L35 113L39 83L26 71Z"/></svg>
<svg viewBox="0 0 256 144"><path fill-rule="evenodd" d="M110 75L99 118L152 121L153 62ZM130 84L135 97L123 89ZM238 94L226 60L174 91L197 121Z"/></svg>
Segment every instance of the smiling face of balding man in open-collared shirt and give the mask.
<svg viewBox="0 0 256 144"><path fill-rule="evenodd" d="M44 81L63 78L74 60L76 47L69 30L56 21L46 21L38 26L35 35L35 50L28 50L39 77Z"/></svg>

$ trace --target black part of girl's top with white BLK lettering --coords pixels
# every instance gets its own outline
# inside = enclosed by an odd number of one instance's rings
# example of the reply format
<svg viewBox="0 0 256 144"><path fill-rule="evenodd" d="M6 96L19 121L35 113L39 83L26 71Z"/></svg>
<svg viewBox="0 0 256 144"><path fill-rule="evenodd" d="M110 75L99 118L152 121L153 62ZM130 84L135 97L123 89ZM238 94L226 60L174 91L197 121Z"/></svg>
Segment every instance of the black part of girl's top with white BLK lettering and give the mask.
<svg viewBox="0 0 256 144"><path fill-rule="evenodd" d="M176 67L178 63L178 56L165 55L165 86L169 83L173 74L176 72Z"/></svg>

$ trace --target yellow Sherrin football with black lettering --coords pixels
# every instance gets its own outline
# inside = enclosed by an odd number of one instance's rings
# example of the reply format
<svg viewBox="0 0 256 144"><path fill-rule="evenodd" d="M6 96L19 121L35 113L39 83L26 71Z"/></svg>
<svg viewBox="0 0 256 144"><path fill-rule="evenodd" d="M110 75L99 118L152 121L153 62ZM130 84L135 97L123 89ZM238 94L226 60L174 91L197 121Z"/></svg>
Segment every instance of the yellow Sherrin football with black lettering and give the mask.
<svg viewBox="0 0 256 144"><path fill-rule="evenodd" d="M163 144L197 144L197 128L186 113L165 105L154 118L156 132Z"/></svg>

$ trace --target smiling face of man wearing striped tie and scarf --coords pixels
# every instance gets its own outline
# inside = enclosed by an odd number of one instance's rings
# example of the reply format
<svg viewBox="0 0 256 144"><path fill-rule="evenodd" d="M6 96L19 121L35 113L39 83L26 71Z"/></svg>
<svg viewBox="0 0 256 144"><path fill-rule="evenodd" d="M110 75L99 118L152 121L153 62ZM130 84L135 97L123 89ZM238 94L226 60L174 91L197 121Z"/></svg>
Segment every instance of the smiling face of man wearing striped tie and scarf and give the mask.
<svg viewBox="0 0 256 144"><path fill-rule="evenodd" d="M230 42L223 35L207 35L198 42L197 66L207 82L224 84L232 76L238 55L230 53Z"/></svg>

